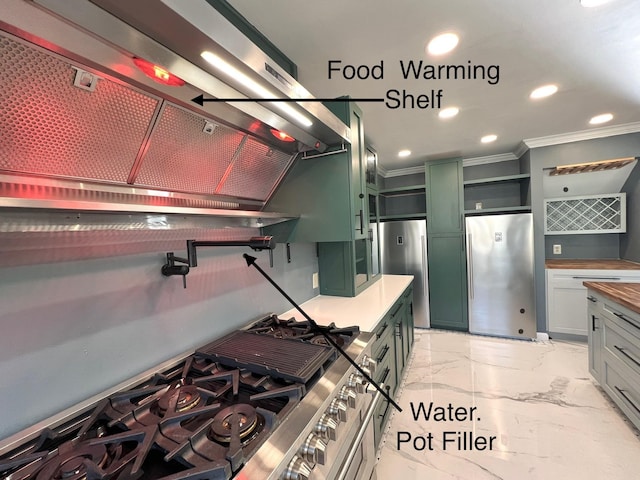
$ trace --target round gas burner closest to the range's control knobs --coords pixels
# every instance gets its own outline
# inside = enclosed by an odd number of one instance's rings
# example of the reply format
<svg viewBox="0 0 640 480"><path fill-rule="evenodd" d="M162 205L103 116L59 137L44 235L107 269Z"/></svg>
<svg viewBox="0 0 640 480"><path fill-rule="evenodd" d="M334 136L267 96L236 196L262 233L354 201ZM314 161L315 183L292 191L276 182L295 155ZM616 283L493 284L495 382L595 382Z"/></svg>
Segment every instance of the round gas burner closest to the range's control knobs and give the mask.
<svg viewBox="0 0 640 480"><path fill-rule="evenodd" d="M236 433L237 425L237 433ZM242 444L249 442L264 426L264 418L256 413L256 409L247 403L239 403L223 408L213 418L211 435L219 442L231 443L238 435Z"/></svg>

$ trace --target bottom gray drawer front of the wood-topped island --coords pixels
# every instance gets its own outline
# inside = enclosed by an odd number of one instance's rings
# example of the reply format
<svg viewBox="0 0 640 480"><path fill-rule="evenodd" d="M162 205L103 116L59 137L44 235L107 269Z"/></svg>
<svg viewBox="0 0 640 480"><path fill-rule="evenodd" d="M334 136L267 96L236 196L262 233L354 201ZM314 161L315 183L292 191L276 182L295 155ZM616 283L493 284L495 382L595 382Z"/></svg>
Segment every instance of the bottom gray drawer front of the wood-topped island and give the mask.
<svg viewBox="0 0 640 480"><path fill-rule="evenodd" d="M603 387L629 420L640 428L640 388L637 375L605 354ZM634 381L635 379L635 381Z"/></svg>

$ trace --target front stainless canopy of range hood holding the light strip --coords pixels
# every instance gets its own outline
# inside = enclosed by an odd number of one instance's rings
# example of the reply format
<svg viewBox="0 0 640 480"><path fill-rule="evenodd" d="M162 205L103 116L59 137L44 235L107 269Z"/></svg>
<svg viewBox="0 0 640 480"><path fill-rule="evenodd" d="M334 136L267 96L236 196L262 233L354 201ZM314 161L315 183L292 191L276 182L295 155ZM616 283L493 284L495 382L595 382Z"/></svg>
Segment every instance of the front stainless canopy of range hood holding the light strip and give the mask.
<svg viewBox="0 0 640 480"><path fill-rule="evenodd" d="M32 1L123 52L165 66L205 96L313 100L206 0ZM211 65L203 52L215 55L227 68ZM253 88L239 76L248 78ZM315 150L349 141L348 128L318 102L227 103ZM215 103L204 107L218 118L227 114L218 109Z"/></svg>

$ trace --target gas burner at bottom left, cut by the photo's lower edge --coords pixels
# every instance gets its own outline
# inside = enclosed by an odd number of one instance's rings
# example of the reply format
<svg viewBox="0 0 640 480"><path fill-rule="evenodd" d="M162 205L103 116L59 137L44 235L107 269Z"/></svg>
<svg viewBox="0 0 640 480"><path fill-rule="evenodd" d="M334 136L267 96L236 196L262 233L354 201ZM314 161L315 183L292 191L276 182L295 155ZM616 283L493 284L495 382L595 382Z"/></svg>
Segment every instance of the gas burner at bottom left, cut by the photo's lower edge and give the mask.
<svg viewBox="0 0 640 480"><path fill-rule="evenodd" d="M79 445L49 460L36 480L85 480L90 472L91 478L96 478L95 472L104 470L110 459L119 457L121 453L120 445L111 453L106 445Z"/></svg>

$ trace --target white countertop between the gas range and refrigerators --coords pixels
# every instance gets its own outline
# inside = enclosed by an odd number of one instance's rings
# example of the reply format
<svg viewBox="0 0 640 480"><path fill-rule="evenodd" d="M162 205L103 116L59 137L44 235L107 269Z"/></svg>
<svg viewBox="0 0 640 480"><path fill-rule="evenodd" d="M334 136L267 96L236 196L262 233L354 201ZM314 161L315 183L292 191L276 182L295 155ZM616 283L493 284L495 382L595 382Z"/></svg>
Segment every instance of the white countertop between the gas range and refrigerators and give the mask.
<svg viewBox="0 0 640 480"><path fill-rule="evenodd" d="M371 332L412 281L413 275L382 275L356 297L318 295L300 307L320 325L331 322L340 328L358 325L361 331ZM279 317L305 320L296 309Z"/></svg>

